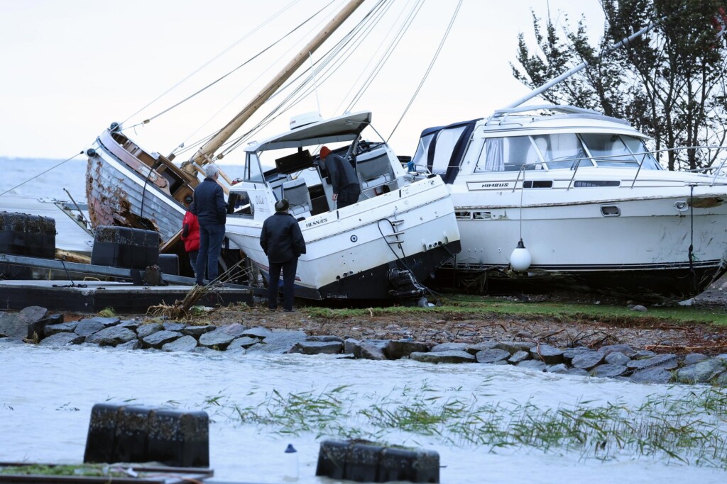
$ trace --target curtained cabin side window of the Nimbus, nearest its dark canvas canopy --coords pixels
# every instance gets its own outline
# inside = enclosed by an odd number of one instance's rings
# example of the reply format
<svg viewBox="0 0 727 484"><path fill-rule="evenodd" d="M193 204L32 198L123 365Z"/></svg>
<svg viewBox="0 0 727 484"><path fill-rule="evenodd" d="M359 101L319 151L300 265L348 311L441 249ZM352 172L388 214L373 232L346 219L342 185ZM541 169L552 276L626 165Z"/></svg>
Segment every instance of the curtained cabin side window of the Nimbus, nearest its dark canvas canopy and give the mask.
<svg viewBox="0 0 727 484"><path fill-rule="evenodd" d="M541 163L529 136L487 138L475 172L535 170Z"/></svg>

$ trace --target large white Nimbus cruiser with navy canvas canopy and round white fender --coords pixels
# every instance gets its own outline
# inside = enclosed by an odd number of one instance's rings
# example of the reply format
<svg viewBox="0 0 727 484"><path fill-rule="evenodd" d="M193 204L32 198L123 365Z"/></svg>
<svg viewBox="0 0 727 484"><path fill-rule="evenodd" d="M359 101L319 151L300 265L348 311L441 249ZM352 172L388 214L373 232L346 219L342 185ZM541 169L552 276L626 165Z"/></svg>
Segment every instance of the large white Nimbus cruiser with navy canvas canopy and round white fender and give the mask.
<svg viewBox="0 0 727 484"><path fill-rule="evenodd" d="M649 300L699 294L727 268L727 178L664 170L644 141L623 120L553 105L423 131L412 164L451 184L462 235L449 269Z"/></svg>

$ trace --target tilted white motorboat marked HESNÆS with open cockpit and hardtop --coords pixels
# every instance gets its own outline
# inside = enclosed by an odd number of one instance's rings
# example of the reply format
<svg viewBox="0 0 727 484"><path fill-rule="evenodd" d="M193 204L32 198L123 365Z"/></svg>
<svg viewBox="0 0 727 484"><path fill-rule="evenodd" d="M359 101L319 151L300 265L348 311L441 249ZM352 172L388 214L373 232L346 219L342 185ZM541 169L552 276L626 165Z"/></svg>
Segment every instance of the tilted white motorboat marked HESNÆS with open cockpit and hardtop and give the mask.
<svg viewBox="0 0 727 484"><path fill-rule="evenodd" d="M276 201L288 200L307 249L298 261L297 297L421 297L421 283L459 253L448 187L439 176L413 181L385 142L364 141L361 132L370 123L371 112L356 112L245 148L244 178L230 187L227 237L266 275L262 222L275 213ZM357 203L334 206L326 173L305 149L321 144L356 163ZM271 161L275 168L264 169Z"/></svg>

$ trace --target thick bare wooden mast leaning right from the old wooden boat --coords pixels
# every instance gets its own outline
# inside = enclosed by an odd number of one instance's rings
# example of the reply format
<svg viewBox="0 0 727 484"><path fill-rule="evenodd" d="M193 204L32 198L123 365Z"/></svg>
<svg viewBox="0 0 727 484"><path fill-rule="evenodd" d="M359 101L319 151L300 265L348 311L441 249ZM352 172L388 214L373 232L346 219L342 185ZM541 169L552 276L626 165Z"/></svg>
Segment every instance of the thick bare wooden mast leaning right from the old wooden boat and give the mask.
<svg viewBox="0 0 727 484"><path fill-rule="evenodd" d="M239 112L233 120L231 120L224 128L217 132L217 134L207 141L203 147L201 147L195 155L185 163L182 163L182 168L189 173L196 172L196 165L204 165L205 163L212 162L212 154L225 144L225 141L230 139L230 136L242 126L246 120L254 114L257 109L262 106L265 101L270 99L283 83L300 67L306 58L310 56L321 44L329 38L334 31L340 27L340 25L350 17L351 14L364 3L364 0L350 0L348 4L341 9L341 11L326 24L326 26L308 43L278 75L255 96L249 104L246 105L244 110Z"/></svg>

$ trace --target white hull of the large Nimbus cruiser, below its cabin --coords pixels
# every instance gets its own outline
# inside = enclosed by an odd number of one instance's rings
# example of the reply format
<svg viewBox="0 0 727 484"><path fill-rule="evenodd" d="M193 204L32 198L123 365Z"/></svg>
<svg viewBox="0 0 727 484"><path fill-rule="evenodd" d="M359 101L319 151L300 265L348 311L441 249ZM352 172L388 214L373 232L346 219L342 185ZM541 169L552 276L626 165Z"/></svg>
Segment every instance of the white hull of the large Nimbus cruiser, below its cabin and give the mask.
<svg viewBox="0 0 727 484"><path fill-rule="evenodd" d="M519 188L473 192L465 188L476 186L471 180L457 192L456 183L462 253L443 276L471 282L486 274L496 288L542 290L547 283L648 300L691 298L726 270L727 190L698 178L702 184L693 187L667 183L683 173L659 176L659 183L587 193L554 183L547 197ZM532 258L526 272L510 269L520 239Z"/></svg>

